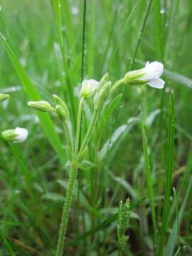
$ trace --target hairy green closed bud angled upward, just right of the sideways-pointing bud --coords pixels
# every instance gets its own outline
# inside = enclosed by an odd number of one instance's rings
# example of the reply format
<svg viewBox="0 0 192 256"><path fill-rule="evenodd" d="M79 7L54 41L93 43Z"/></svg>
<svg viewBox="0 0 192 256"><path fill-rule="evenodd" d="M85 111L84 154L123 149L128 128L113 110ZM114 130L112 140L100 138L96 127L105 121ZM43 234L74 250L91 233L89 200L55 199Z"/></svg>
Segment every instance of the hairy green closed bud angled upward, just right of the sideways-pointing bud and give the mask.
<svg viewBox="0 0 192 256"><path fill-rule="evenodd" d="M53 95L53 100L55 101L55 110L60 117L62 121L65 121L66 119L69 118L69 110L65 102L60 99L57 95Z"/></svg>

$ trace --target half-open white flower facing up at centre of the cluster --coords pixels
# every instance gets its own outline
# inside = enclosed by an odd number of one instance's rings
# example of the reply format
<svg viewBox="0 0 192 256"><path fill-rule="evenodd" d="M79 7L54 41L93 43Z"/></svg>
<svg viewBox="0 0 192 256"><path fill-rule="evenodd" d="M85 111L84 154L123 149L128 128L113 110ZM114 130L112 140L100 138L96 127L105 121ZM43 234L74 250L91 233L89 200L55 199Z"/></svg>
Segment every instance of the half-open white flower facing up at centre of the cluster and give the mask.
<svg viewBox="0 0 192 256"><path fill-rule="evenodd" d="M94 79L84 80L82 82L82 87L80 90L80 97L84 97L86 99L87 97L91 97L92 95L94 95L97 90L98 84L99 82Z"/></svg>

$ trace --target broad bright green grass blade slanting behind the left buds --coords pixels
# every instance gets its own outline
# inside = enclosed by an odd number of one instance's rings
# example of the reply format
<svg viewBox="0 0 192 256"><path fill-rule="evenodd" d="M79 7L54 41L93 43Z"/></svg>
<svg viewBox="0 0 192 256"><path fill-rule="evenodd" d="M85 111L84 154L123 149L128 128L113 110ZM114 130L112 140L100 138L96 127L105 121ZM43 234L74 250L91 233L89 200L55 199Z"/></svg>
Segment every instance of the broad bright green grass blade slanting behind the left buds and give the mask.
<svg viewBox="0 0 192 256"><path fill-rule="evenodd" d="M11 50L9 43L6 42L6 39L4 38L4 36L2 36L1 33L0 41L4 45L4 48L6 49L6 53L9 55L11 63L14 65L18 78L21 80L21 84L23 85L23 88L26 91L28 98L30 100L40 100L41 97L38 94L36 87L33 85L33 82L31 82L30 78L28 78L28 75L26 74L25 70L23 70L13 50ZM53 146L53 149L55 149L58 156L63 161L63 159L65 159L63 146L60 142L58 134L55 132L55 127L52 120L50 119L50 116L41 112L36 112L36 114L38 115L41 127L43 128L46 137L48 137L50 144Z"/></svg>

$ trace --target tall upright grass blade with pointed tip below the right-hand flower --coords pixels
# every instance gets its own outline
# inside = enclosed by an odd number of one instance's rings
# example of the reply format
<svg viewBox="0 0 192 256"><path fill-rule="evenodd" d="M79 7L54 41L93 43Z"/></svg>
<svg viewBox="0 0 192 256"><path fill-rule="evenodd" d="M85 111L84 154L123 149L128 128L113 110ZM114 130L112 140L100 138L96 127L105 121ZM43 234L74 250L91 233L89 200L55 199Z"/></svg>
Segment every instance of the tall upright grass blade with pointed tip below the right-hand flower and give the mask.
<svg viewBox="0 0 192 256"><path fill-rule="evenodd" d="M167 164L166 164L166 186L164 198L164 210L162 218L161 233L159 237L158 255L163 255L164 240L166 235L167 220L169 216L169 198L171 194L171 179L174 161L174 93L171 91L169 101L169 126L168 126L168 148L167 148Z"/></svg>

